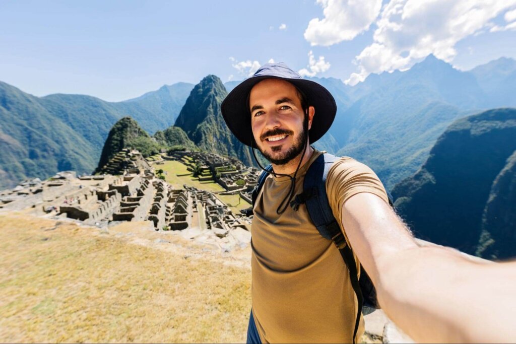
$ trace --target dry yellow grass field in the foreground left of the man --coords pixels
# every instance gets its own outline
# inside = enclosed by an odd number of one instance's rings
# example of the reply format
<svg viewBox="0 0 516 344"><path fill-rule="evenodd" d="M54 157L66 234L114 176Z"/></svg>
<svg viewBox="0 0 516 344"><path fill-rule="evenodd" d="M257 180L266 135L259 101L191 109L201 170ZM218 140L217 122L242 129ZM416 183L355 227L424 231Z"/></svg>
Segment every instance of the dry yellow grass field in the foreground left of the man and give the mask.
<svg viewBox="0 0 516 344"><path fill-rule="evenodd" d="M249 248L3 213L0 251L0 342L245 341Z"/></svg>

